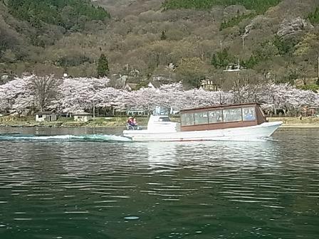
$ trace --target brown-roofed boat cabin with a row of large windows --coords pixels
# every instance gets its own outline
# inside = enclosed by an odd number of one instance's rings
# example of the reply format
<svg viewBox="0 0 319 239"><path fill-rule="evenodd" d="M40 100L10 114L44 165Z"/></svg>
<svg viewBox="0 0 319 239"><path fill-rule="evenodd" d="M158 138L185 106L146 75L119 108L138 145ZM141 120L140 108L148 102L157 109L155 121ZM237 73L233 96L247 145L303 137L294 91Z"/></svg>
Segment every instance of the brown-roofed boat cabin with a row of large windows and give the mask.
<svg viewBox="0 0 319 239"><path fill-rule="evenodd" d="M266 122L257 103L218 105L180 111L181 131L248 127Z"/></svg>

